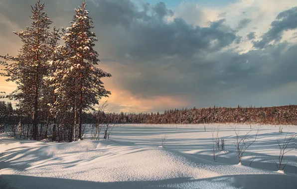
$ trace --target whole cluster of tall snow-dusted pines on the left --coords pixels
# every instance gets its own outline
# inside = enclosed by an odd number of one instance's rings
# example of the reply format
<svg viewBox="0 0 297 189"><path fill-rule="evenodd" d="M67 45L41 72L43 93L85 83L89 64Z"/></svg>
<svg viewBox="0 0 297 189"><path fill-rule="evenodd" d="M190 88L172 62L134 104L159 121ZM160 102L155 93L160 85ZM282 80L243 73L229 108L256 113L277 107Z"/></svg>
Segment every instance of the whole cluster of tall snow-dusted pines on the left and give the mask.
<svg viewBox="0 0 297 189"><path fill-rule="evenodd" d="M27 127L27 136L34 140L47 138L48 125L52 125L53 140L59 140L61 132L69 141L81 139L84 112L111 94L101 81L111 74L96 67L100 60L94 42L98 40L91 31L94 26L86 5L84 0L70 26L60 30L51 27L44 3L37 0L31 6L31 25L13 32L23 43L17 56L0 56L4 66L0 75L17 85L1 97L16 102L11 116L19 119L19 125L32 125ZM59 45L60 40L65 45Z"/></svg>

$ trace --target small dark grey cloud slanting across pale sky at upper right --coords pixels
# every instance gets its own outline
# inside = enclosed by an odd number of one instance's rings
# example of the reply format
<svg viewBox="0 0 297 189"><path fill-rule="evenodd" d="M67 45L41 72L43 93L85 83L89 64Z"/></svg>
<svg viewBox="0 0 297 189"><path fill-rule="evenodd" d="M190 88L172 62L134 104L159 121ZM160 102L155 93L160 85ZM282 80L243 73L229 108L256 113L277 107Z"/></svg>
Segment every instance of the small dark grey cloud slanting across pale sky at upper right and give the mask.
<svg viewBox="0 0 297 189"><path fill-rule="evenodd" d="M262 36L262 40L254 41L254 47L263 49L272 41L280 41L284 31L297 28L297 6L278 14L271 23L271 28Z"/></svg>

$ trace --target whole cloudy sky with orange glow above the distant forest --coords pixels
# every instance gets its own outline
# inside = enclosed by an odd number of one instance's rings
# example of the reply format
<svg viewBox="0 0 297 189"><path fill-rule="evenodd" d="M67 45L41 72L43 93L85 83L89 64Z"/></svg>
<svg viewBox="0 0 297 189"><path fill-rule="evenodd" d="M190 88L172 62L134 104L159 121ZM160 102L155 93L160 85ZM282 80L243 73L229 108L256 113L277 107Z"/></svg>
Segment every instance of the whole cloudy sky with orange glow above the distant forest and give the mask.
<svg viewBox="0 0 297 189"><path fill-rule="evenodd" d="M66 28L82 0L43 2L52 26ZM86 2L115 112L297 104L296 0ZM30 25L34 3L0 0L1 55L17 55L12 31Z"/></svg>

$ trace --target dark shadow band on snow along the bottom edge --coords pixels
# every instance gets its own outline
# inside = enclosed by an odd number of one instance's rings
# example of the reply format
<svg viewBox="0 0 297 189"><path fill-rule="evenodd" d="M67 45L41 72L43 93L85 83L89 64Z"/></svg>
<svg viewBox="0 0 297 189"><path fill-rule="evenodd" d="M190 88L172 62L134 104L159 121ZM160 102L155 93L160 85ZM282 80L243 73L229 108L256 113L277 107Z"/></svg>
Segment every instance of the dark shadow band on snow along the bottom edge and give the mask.
<svg viewBox="0 0 297 189"><path fill-rule="evenodd" d="M281 174L106 183L22 175L0 176L1 189L295 189L296 185L297 177Z"/></svg>

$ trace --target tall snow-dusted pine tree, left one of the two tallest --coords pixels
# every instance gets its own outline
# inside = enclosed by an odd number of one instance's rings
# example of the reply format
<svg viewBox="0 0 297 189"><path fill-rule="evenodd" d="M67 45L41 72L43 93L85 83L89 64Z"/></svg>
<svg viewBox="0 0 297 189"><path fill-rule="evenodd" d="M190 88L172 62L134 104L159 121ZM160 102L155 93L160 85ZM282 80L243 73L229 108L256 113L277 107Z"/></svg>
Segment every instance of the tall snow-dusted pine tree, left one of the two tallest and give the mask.
<svg viewBox="0 0 297 189"><path fill-rule="evenodd" d="M6 81L13 81L17 89L10 95L33 112L33 139L37 139L39 100L44 87L43 76L47 74L48 40L50 37L50 18L43 11L44 3L37 0L32 8L31 27L14 32L23 42L17 57L1 56L14 63L5 65Z"/></svg>

